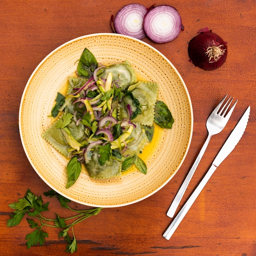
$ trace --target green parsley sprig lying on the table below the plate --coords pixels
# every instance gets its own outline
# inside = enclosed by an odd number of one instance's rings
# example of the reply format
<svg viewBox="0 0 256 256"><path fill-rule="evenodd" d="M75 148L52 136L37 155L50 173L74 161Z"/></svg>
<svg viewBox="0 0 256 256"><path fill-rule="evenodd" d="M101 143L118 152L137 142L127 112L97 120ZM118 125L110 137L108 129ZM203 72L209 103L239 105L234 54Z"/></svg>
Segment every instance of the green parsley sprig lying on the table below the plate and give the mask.
<svg viewBox="0 0 256 256"><path fill-rule="evenodd" d="M73 254L73 252L76 252L77 250L77 243L74 235L74 225L82 222L90 216L97 215L102 208L75 210L68 205L68 203L71 202L69 199L63 197L52 189L44 192L44 195L49 196L50 198L57 198L61 203L62 208L69 209L75 212L76 215L69 218L63 218L56 213L55 219L46 218L42 213L49 211L49 202L44 203L41 196L38 197L27 189L24 198L20 198L18 202L9 204L9 207L13 209L13 213L11 213L11 218L7 220L7 227L19 225L23 217L25 217L27 214L27 216L31 217L27 218L29 227L34 229L34 231L27 234L25 238L27 240L26 244L28 249L31 246L37 245L38 243L40 246L45 243L45 238L48 237L48 233L43 230L44 227L55 227L61 229L58 237L63 237L64 240L67 241L67 249L65 252L70 252ZM70 220L74 221L68 224ZM72 233L72 238L70 237L69 233Z"/></svg>

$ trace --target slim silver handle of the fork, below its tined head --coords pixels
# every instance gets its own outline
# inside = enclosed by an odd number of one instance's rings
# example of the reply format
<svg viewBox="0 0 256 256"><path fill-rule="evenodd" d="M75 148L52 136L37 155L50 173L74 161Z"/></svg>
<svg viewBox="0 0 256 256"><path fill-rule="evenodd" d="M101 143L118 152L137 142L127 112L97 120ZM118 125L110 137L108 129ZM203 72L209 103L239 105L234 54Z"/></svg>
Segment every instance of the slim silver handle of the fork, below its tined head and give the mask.
<svg viewBox="0 0 256 256"><path fill-rule="evenodd" d="M188 187L189 182L191 181L191 178L192 178L193 174L195 173L195 169L198 167L198 164L199 164L200 160L202 159L202 156L204 155L204 152L209 144L211 137L212 137L212 135L208 133L207 139L205 140L204 145L202 146L197 158L195 159L193 166L191 167L188 175L186 176L184 182L182 183L182 186L180 187L178 193L176 194L175 198L173 199L173 202L172 202L170 208L168 209L168 211L166 213L166 215L168 217L173 218L174 213L180 204L182 196L184 195L186 188Z"/></svg>

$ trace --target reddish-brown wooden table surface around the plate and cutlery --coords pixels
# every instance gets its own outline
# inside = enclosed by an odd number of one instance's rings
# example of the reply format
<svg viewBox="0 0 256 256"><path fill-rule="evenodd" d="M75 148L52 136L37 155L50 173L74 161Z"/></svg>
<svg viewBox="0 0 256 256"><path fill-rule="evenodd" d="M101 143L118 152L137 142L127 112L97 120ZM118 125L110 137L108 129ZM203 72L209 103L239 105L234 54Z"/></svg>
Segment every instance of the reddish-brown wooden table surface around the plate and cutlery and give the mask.
<svg viewBox="0 0 256 256"><path fill-rule="evenodd" d="M139 0L149 7L155 2ZM8 204L23 197L27 189L36 195L50 188L31 167L22 148L18 112L29 76L40 61L59 45L79 36L112 32L110 16L128 0L1 0L0 1L0 254L68 255L58 229L46 228L43 247L27 249L26 234L32 229L24 219L7 227ZM175 7L184 31L170 43L144 38L177 68L189 90L193 105L193 137L180 170L149 198L119 208L102 209L75 227L78 250L74 255L256 255L256 157L255 69L256 2L254 0L166 0L157 4ZM228 45L227 61L214 71L189 62L188 42L201 28L209 27ZM215 135L180 204L207 171L220 146L251 106L245 133L213 174L170 240L162 234L171 223L166 216L178 188L207 137L207 117L224 97L238 99L225 129ZM50 212L64 214L53 198ZM74 207L86 206L72 203ZM179 207L179 209L180 209Z"/></svg>

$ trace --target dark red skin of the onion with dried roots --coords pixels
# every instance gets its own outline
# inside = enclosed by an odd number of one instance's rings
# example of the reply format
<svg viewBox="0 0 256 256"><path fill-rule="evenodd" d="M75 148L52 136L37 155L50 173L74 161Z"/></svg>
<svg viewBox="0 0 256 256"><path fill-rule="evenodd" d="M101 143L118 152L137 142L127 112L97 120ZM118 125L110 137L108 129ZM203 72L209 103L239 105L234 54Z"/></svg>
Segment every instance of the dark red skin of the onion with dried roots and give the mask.
<svg viewBox="0 0 256 256"><path fill-rule="evenodd" d="M201 34L192 38L189 42L188 52L190 61L196 66L200 67L203 70L215 70L220 67L227 59L227 44L224 40L217 34L212 33L208 29L201 29ZM217 61L209 62L209 57L207 56L207 48L212 46L220 47L224 50L224 54L220 56Z"/></svg>

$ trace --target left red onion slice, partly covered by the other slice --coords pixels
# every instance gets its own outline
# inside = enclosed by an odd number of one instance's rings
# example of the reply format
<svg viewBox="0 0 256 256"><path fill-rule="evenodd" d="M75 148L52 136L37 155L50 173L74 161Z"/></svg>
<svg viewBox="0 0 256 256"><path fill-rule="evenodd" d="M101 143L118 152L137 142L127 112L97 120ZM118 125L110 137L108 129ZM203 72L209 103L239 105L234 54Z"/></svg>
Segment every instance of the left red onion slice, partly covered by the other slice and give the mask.
<svg viewBox="0 0 256 256"><path fill-rule="evenodd" d="M118 34L142 39L146 36L143 19L148 9L142 4L127 4L115 16L114 25Z"/></svg>

